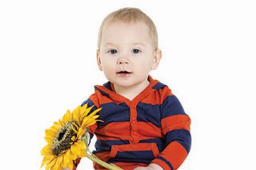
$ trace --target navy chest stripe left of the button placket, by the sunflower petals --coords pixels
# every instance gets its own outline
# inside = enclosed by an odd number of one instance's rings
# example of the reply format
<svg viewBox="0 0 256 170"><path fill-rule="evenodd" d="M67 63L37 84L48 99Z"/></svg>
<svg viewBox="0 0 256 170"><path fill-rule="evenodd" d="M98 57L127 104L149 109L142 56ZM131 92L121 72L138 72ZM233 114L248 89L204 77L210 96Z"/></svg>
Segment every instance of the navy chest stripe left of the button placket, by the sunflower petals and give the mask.
<svg viewBox="0 0 256 170"><path fill-rule="evenodd" d="M129 122L129 107L125 103L105 103L100 105L100 120L99 126L104 126L107 123Z"/></svg>

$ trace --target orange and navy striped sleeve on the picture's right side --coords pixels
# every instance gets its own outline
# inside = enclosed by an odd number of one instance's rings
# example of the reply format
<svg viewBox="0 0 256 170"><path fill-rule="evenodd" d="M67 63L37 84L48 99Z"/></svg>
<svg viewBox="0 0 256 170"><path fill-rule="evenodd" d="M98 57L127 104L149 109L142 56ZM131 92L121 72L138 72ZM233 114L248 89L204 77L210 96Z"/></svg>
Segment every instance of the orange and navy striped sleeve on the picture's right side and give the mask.
<svg viewBox="0 0 256 170"><path fill-rule="evenodd" d="M165 148L151 163L163 169L178 169L191 149L191 119L184 112L176 96L164 100L161 127L165 137Z"/></svg>

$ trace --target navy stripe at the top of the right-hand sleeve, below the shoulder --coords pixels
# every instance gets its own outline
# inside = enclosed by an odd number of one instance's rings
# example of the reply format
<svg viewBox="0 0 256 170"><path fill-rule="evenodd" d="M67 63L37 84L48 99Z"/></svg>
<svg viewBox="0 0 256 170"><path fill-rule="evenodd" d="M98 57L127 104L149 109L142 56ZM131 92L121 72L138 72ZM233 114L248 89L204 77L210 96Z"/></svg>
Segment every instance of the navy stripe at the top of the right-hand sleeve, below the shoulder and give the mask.
<svg viewBox="0 0 256 170"><path fill-rule="evenodd" d="M181 106L181 102L178 101L178 98L174 95L168 96L161 107L162 118L166 118L171 115L186 115L183 107Z"/></svg>

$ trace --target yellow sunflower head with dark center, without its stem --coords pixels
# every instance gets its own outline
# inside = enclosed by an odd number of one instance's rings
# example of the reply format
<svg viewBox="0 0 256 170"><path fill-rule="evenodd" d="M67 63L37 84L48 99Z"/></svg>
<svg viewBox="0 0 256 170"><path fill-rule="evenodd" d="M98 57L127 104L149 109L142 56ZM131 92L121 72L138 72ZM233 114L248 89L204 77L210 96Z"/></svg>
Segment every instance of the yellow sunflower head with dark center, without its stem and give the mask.
<svg viewBox="0 0 256 170"><path fill-rule="evenodd" d="M88 127L95 124L100 115L96 115L101 108L90 113L91 109L78 106L70 113L68 110L62 120L53 123L50 129L46 130L45 140L48 143L41 150L43 162L41 167L46 169L61 170L68 167L73 169L73 162L78 157L86 157L87 145L82 140L87 134ZM88 114L90 113L90 114Z"/></svg>

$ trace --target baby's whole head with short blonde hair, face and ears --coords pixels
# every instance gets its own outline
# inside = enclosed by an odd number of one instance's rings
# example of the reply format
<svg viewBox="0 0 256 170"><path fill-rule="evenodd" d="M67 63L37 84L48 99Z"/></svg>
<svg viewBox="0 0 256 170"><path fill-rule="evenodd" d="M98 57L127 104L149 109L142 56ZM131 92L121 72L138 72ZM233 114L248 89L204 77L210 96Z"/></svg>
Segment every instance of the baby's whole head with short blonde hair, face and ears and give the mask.
<svg viewBox="0 0 256 170"><path fill-rule="evenodd" d="M137 8L122 8L102 22L97 64L114 89L144 89L161 59L156 27ZM139 90L136 90L139 91Z"/></svg>

